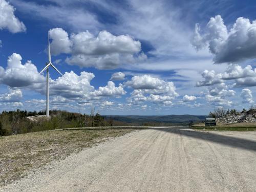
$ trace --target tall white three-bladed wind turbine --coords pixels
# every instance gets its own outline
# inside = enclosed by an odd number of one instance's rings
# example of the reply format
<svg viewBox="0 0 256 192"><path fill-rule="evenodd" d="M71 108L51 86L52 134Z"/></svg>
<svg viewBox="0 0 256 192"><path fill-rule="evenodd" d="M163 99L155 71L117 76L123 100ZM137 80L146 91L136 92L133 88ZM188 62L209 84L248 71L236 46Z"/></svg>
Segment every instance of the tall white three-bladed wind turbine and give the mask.
<svg viewBox="0 0 256 192"><path fill-rule="evenodd" d="M57 68L54 65L52 65L49 31L48 31L48 59L49 61L46 63L46 67L42 69L42 71L39 73L41 74L42 72L47 70L46 71L47 72L46 73L46 116L47 117L49 117L49 67L52 66L53 69L55 69L61 76L63 76L62 73L60 73L59 70L57 70Z"/></svg>

